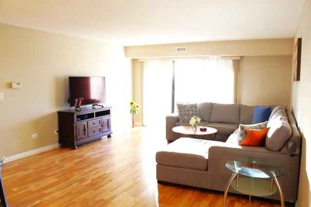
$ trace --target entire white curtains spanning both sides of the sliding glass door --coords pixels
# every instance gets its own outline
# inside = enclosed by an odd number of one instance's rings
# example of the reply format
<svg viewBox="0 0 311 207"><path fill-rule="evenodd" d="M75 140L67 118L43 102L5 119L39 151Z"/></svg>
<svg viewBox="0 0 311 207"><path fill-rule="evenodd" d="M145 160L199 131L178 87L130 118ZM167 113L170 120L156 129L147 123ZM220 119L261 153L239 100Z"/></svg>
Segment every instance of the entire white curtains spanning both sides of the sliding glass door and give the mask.
<svg viewBox="0 0 311 207"><path fill-rule="evenodd" d="M236 103L238 69L234 72L232 60L148 60L143 70L144 126L163 125L172 112L173 62L175 103Z"/></svg>

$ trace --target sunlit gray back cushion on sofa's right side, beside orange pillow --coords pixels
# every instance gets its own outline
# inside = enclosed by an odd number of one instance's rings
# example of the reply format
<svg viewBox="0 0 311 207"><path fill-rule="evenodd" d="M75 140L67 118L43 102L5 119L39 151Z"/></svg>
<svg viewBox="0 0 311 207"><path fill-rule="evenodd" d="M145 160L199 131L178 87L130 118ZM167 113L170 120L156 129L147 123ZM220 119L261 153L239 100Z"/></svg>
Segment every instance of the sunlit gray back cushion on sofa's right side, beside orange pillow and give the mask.
<svg viewBox="0 0 311 207"><path fill-rule="evenodd" d="M276 107L272 112L267 124L270 129L266 137L266 147L272 151L277 151L291 138L292 128L283 108Z"/></svg>

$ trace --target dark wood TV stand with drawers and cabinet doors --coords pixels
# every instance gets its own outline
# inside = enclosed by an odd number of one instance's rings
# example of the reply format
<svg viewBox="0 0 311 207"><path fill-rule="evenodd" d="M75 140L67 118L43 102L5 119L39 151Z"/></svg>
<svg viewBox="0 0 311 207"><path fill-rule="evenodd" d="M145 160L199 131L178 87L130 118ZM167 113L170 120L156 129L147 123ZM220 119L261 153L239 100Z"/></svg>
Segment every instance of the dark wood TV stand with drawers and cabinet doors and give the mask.
<svg viewBox="0 0 311 207"><path fill-rule="evenodd" d="M110 138L112 134L111 108L57 111L59 145L76 149L79 144L88 143L104 136Z"/></svg>

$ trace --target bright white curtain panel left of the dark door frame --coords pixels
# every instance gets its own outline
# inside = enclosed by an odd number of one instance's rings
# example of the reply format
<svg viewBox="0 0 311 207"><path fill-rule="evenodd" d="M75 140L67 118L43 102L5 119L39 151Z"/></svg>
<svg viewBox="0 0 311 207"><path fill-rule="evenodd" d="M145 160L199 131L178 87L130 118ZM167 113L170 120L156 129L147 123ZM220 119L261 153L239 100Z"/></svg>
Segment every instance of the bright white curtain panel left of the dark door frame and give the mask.
<svg viewBox="0 0 311 207"><path fill-rule="evenodd" d="M165 124L172 112L172 61L146 61L143 71L143 125Z"/></svg>

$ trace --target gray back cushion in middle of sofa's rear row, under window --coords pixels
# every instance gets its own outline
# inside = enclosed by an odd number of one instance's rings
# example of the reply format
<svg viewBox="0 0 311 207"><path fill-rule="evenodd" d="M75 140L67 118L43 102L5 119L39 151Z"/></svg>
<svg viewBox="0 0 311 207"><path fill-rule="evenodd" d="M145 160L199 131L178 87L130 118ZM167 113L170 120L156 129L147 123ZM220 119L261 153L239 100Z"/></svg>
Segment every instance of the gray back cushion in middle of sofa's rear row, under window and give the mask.
<svg viewBox="0 0 311 207"><path fill-rule="evenodd" d="M213 103L209 122L239 124L240 123L240 104Z"/></svg>

